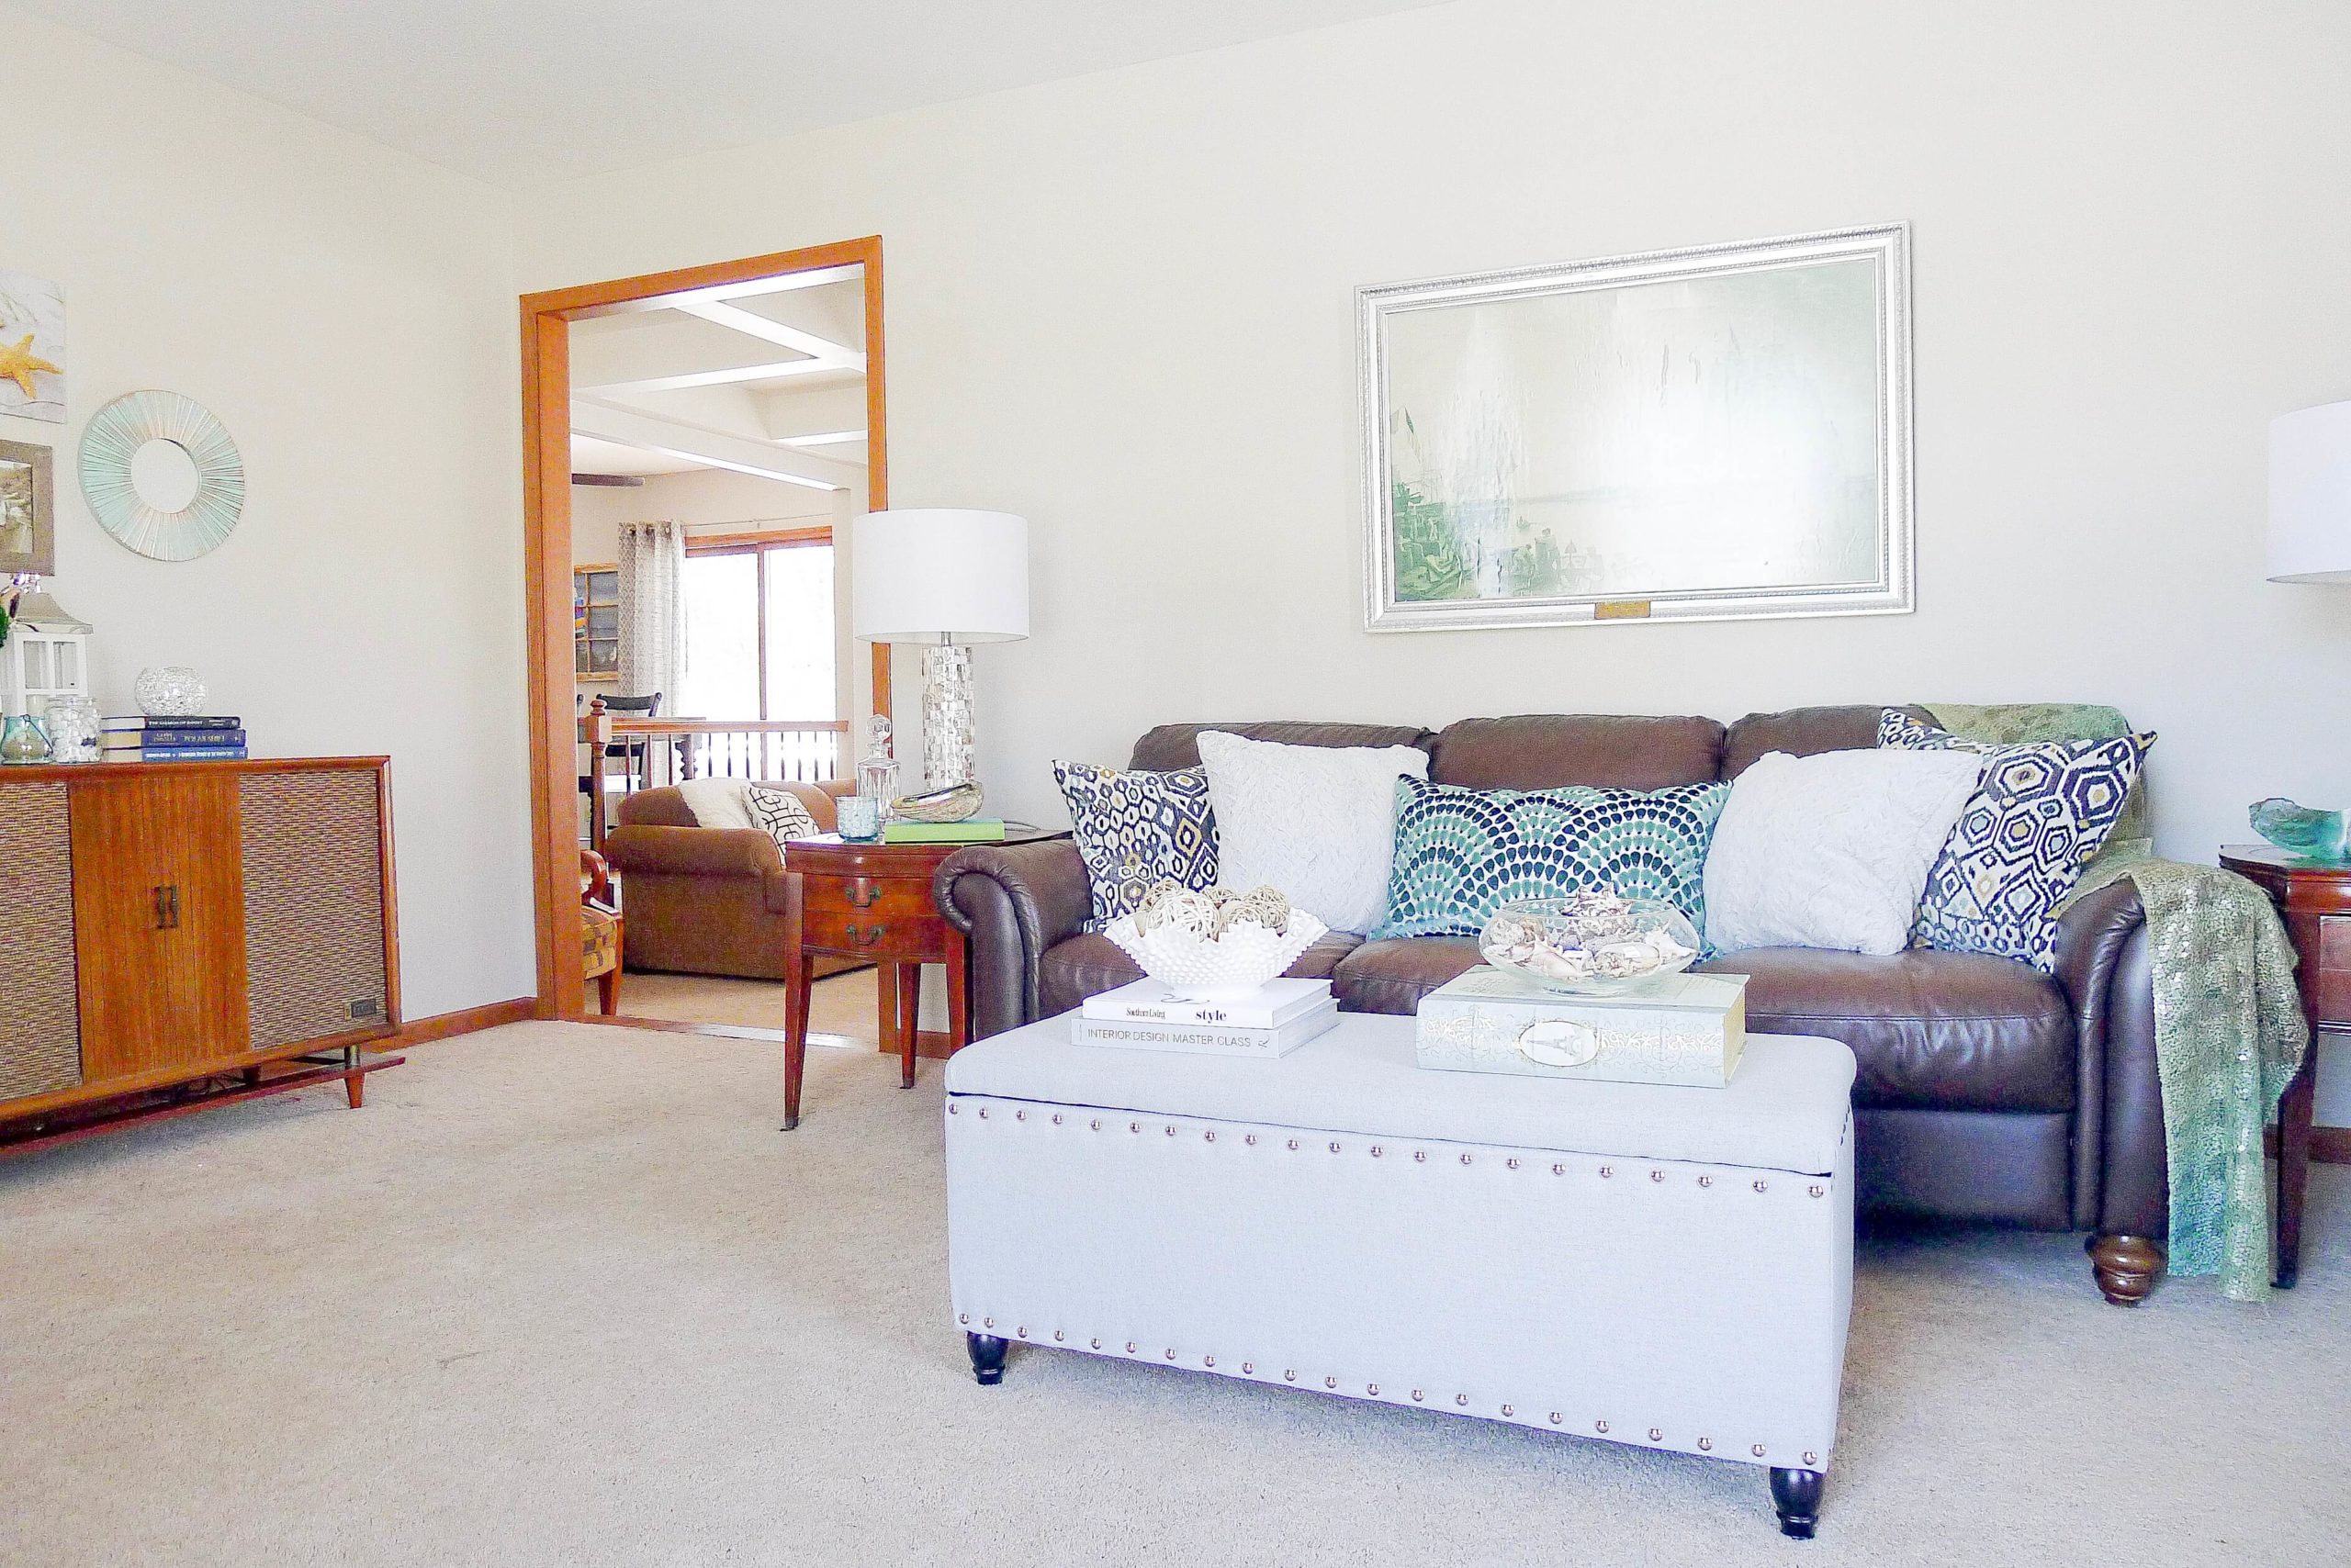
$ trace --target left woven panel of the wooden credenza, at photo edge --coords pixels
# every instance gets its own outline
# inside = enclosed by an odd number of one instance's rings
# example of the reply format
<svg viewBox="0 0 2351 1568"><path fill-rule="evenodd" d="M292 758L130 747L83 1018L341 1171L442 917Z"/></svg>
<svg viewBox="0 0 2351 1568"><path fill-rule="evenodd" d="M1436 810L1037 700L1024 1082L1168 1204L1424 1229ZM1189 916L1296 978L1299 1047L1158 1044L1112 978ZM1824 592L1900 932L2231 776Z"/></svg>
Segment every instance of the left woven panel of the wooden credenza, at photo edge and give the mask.
<svg viewBox="0 0 2351 1568"><path fill-rule="evenodd" d="M82 1081L66 785L0 785L0 1100Z"/></svg>

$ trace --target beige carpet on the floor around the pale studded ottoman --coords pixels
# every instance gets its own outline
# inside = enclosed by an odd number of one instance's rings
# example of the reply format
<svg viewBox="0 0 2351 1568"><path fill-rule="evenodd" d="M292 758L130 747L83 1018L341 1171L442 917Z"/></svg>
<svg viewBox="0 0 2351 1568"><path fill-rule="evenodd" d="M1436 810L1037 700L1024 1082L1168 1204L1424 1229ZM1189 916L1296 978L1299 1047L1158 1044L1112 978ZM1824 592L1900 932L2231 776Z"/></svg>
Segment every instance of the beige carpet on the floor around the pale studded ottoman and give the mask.
<svg viewBox="0 0 2351 1568"><path fill-rule="evenodd" d="M1871 1241L1817 1542L1759 1472L945 1312L938 1067L515 1025L0 1161L0 1563L2342 1563L2351 1182L2304 1286L2104 1307ZM1507 1333L1507 1324L1495 1324Z"/></svg>

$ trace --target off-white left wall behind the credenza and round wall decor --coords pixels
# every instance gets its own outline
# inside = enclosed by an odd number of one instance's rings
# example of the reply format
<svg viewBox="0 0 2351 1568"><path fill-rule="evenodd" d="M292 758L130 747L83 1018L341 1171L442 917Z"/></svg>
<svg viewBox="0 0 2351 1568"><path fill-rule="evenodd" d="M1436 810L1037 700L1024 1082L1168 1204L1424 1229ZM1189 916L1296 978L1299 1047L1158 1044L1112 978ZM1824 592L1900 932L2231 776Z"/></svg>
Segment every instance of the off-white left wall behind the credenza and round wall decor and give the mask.
<svg viewBox="0 0 2351 1568"><path fill-rule="evenodd" d="M484 186L0 9L0 266L66 289L56 597L99 705L202 670L256 755L393 757L407 1013L536 990L513 207ZM87 418L186 393L247 508L165 564L82 503Z"/></svg>

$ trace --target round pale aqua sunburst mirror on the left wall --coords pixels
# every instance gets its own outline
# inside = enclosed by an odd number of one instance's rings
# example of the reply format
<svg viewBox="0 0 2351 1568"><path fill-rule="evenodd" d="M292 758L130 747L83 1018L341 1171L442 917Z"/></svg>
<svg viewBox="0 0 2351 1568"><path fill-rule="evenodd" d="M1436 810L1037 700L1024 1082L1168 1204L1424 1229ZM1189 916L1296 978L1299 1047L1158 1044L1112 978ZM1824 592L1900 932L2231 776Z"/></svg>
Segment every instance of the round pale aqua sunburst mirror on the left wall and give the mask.
<svg viewBox="0 0 2351 1568"><path fill-rule="evenodd" d="M179 393L127 393L82 430L82 496L139 555L186 562L237 527L245 458L212 409Z"/></svg>

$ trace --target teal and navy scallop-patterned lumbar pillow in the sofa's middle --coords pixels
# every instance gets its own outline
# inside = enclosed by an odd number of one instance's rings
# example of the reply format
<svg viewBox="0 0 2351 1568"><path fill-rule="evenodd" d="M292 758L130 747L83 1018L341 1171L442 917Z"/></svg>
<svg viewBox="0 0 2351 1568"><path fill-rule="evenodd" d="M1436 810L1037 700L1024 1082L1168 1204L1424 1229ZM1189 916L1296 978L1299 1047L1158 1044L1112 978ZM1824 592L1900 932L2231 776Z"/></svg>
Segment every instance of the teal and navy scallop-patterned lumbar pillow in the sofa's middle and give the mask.
<svg viewBox="0 0 2351 1568"><path fill-rule="evenodd" d="M1476 936L1507 898L1615 889L1707 931L1707 839L1728 783L1667 790L1462 790L1396 780L1385 936Z"/></svg>

